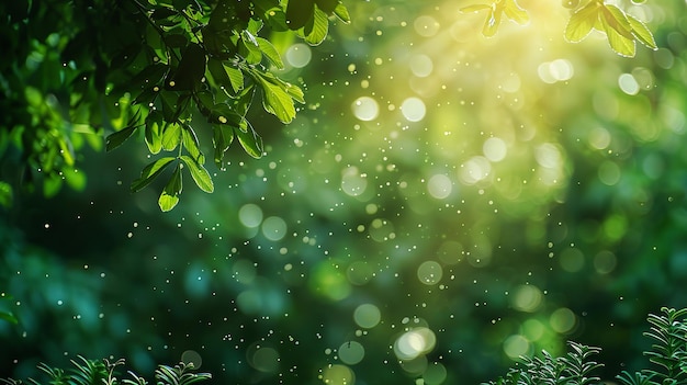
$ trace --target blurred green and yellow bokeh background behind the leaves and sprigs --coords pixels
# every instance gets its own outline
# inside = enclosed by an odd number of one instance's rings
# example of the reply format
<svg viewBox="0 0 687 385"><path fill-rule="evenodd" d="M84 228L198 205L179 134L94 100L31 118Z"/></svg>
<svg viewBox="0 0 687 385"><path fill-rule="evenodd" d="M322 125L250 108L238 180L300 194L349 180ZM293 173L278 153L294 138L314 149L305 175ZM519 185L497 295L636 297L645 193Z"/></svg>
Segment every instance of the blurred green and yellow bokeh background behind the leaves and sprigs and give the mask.
<svg viewBox="0 0 687 385"><path fill-rule="evenodd" d="M488 39L466 4L348 1L322 46L274 36L307 104L285 127L256 112L268 155L234 148L171 213L128 192L135 144L86 150L82 191L15 196L2 376L82 354L225 384L476 384L571 339L606 380L644 365L647 313L687 306L685 2L629 7L660 46L631 59L565 43L558 2Z"/></svg>

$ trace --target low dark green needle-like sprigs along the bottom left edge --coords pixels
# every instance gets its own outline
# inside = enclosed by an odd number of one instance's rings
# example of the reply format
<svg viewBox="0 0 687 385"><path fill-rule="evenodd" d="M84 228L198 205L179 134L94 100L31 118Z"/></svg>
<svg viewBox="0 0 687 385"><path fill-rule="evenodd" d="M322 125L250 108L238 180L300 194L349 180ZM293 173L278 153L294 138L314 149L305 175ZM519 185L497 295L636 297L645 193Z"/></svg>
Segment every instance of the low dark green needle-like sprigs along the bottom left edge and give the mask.
<svg viewBox="0 0 687 385"><path fill-rule="evenodd" d="M124 365L124 360L120 359L114 362L110 362L108 359L103 360L87 360L79 356L79 362L71 360L74 367L65 371L60 367L53 367L45 363L38 364L38 369L47 375L47 382L38 382L33 378L29 378L27 383L32 385L146 385L148 382L145 377L128 371L131 378L120 378L119 373L115 371L117 366ZM193 373L193 364L181 362L178 365L167 366L158 365L155 371L155 384L156 385L191 385L201 381L212 378L210 373ZM0 378L8 385L19 385L22 381L12 378Z"/></svg>

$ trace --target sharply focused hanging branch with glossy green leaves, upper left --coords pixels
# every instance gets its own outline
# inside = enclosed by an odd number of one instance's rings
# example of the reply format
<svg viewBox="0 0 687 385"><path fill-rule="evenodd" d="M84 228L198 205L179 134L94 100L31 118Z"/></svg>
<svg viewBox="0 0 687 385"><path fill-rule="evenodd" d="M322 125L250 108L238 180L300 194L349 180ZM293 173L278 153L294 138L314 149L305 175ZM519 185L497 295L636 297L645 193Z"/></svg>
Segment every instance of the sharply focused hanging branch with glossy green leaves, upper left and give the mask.
<svg viewBox="0 0 687 385"><path fill-rule="evenodd" d="M327 35L329 15L349 21L338 0L218 1L214 7L193 2L183 8L162 1L149 8L133 3L148 24L146 38L143 47L124 50L122 59L142 60L143 69L136 77L134 114L126 127L108 136L106 150L143 128L150 154L176 152L147 165L132 183L136 192L174 165L158 200L162 211L179 202L182 167L201 190L214 190L191 126L193 112L212 126L214 162L222 168L224 152L235 138L250 156L262 156L262 139L246 118L258 89L264 110L283 123L295 117L294 102L305 102L299 87L270 71L283 68L283 63L277 48L260 36L262 27L292 30L307 43L319 44Z"/></svg>

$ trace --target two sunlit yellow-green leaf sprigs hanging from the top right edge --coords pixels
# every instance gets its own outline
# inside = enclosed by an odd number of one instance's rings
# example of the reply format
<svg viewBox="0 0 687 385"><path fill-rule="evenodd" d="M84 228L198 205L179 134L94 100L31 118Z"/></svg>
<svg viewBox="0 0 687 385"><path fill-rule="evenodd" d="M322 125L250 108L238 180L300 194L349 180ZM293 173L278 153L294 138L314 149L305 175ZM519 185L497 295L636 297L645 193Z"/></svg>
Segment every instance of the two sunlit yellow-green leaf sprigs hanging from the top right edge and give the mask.
<svg viewBox="0 0 687 385"><path fill-rule="evenodd" d="M563 5L572 12L564 32L565 38L571 43L582 42L596 30L606 34L611 49L620 56L633 57L637 52L635 42L657 49L653 34L646 25L612 3L605 0L583 2L570 0L563 1ZM496 34L504 15L521 25L530 20L517 0L494 0L491 4L472 4L462 8L461 11L465 13L486 11L482 34L487 37Z"/></svg>

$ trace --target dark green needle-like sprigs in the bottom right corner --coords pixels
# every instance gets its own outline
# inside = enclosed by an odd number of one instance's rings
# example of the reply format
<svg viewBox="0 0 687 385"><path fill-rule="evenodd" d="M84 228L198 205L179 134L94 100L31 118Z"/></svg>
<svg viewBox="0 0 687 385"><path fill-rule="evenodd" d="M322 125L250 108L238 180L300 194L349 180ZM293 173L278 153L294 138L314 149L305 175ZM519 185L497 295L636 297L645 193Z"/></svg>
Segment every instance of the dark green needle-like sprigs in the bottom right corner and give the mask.
<svg viewBox="0 0 687 385"><path fill-rule="evenodd" d="M635 373L623 371L616 378L624 385L679 385L687 384L687 308L676 310L663 307L661 315L650 314L651 328L644 336L653 340L652 349L645 351L656 369ZM483 385L587 385L601 384L592 372L602 364L589 360L600 352L599 348L568 342L572 351L565 356L553 358L547 351L541 356L522 358L506 375Z"/></svg>

